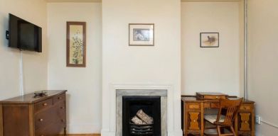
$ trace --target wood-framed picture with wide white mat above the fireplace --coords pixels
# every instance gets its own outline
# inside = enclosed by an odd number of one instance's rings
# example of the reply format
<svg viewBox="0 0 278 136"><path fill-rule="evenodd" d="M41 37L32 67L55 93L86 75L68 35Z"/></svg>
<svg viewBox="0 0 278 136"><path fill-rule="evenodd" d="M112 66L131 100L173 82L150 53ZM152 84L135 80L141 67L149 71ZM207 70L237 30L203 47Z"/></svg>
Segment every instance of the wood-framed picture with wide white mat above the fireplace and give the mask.
<svg viewBox="0 0 278 136"><path fill-rule="evenodd" d="M154 23L129 23L129 46L154 46Z"/></svg>

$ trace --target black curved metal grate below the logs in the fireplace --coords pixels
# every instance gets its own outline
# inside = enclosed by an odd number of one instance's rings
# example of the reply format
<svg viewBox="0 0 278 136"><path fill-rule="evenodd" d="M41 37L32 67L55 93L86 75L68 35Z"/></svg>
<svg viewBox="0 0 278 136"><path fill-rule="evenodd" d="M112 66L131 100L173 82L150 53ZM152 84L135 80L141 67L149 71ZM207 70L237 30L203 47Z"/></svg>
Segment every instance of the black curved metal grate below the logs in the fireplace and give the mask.
<svg viewBox="0 0 278 136"><path fill-rule="evenodd" d="M130 134L131 135L139 135L139 136L151 136L154 135L153 124L146 124L146 125L137 125L132 122L129 123L130 125Z"/></svg>

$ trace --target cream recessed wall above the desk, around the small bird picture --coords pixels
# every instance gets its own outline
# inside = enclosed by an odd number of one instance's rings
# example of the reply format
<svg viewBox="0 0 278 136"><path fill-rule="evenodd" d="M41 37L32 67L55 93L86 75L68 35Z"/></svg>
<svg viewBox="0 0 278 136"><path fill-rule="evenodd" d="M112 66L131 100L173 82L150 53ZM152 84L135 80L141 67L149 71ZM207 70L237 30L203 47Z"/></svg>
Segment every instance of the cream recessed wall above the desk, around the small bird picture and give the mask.
<svg viewBox="0 0 278 136"><path fill-rule="evenodd" d="M238 2L182 2L181 94L242 91L241 6ZM200 33L218 32L219 47L200 47Z"/></svg>

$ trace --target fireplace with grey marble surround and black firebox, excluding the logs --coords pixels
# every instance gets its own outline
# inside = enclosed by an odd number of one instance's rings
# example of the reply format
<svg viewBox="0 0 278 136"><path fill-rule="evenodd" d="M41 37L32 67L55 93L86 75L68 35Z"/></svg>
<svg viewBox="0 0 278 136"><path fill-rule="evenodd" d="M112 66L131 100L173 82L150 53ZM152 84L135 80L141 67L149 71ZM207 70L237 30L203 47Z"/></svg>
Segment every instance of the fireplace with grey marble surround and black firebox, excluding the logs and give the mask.
<svg viewBox="0 0 278 136"><path fill-rule="evenodd" d="M116 90L116 132L115 136L133 136L132 128L143 128L144 132L149 132L148 127L152 127L154 136L167 136L167 101L168 95L165 89L117 89ZM129 110L127 110L129 107ZM150 110L151 109L151 110ZM153 123L144 125L133 125L132 118L138 111L143 111L153 119ZM141 114L141 113L140 113ZM159 123L160 122L160 123ZM132 123L132 124L131 124ZM160 126L159 126L160 125ZM140 130L139 129L139 130ZM156 131L159 131L156 133ZM138 132L138 131L137 131ZM141 134L140 134L141 135ZM147 135L147 134L146 134ZM142 135L144 136L144 135Z"/></svg>

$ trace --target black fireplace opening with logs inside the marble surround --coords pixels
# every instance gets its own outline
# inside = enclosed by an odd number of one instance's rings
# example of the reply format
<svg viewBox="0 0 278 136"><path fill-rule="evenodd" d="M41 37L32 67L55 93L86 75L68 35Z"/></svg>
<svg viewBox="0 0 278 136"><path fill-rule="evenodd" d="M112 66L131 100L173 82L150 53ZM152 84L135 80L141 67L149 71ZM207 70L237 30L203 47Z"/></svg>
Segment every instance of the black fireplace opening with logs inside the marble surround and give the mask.
<svg viewBox="0 0 278 136"><path fill-rule="evenodd" d="M160 96L122 97L122 136L161 136Z"/></svg>

